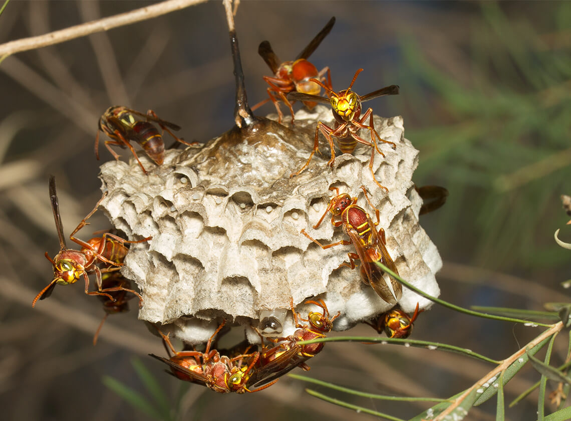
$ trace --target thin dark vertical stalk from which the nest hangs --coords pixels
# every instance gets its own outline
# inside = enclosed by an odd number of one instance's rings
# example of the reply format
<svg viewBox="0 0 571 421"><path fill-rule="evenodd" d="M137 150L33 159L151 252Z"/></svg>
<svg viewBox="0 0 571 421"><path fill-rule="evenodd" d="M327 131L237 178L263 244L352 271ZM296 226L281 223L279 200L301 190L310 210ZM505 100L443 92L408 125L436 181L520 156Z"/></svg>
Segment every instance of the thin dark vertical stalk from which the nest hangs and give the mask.
<svg viewBox="0 0 571 421"><path fill-rule="evenodd" d="M234 108L234 121L236 126L251 125L256 121L254 113L248 105L246 98L246 85L244 84L244 71L242 70L242 61L240 60L240 49L238 47L238 36L234 27L234 15L232 13L232 2L224 0L224 9L226 9L226 19L228 28L230 29L230 47L232 50L232 61L234 61L234 77L236 78L236 107Z"/></svg>

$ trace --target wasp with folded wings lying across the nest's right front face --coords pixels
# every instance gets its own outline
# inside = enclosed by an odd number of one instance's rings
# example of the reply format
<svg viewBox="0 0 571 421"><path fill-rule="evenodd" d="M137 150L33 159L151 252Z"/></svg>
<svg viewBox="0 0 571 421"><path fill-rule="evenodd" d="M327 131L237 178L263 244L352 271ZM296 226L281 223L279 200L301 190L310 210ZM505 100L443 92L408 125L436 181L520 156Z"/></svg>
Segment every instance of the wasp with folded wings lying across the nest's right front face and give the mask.
<svg viewBox="0 0 571 421"><path fill-rule="evenodd" d="M373 223L371 216L369 216L362 207L356 205L356 197L351 198L347 193L339 194L339 189L337 189L337 187L331 187L329 190L335 190L335 197L329 201L327 209L321 216L321 219L319 219L319 221L313 226L313 229L316 230L319 228L321 222L323 222L323 219L325 218L325 215L327 215L327 212L331 212L333 215L331 217L331 223L333 226L343 226L343 231L351 240L340 240L336 243L324 246L319 241L309 236L305 230L301 230L301 234L319 245L323 250L339 246L339 244L353 244L356 253L348 253L349 263L345 262L341 264L341 266L348 266L354 269L356 266L355 260L360 260L361 280L363 280L364 283L371 285L373 290L375 290L375 292L387 303L396 304L403 295L403 286L396 279L389 276L392 286L391 291L387 282L383 278L384 271L375 263L383 263L397 275L399 274L399 271L397 271L395 262L393 262L391 255L389 255L387 247L385 247L387 244L385 239L385 230L383 228L379 228L379 230L377 230L376 228L379 225L379 210L376 209L369 200L365 187L361 186L361 189L363 189L363 193L365 194L365 198L367 199L367 202L369 202L369 205L375 209L375 214L377 216L376 223ZM336 218L339 218L340 220L336 220Z"/></svg>

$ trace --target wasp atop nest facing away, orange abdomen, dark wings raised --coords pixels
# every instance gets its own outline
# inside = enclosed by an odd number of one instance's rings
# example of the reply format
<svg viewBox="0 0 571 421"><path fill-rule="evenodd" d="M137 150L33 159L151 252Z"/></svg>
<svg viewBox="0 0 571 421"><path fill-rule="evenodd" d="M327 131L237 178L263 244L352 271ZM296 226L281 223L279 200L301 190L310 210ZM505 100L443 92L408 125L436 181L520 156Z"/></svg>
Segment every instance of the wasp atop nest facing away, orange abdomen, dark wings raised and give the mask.
<svg viewBox="0 0 571 421"><path fill-rule="evenodd" d="M315 49L320 45L321 41L329 34L333 25L335 24L335 17L329 19L327 25L319 31L319 34L315 35L315 38L309 42L307 47L297 55L295 61L286 61L280 64L278 56L272 50L272 46L269 41L263 41L258 47L258 54L262 56L268 67L274 73L274 77L264 76L264 81L270 85L268 87L268 95L270 98L264 99L264 101L256 104L252 107L252 110L264 105L268 101L272 101L278 111L278 123L282 122L283 114L278 105L278 98L281 99L284 104L289 108L291 113L291 123L293 125L293 108L291 103L286 98L286 94L289 92L297 91L305 94L320 95L321 87L315 82L311 81L312 78L323 79L327 81L327 86L331 87L331 75L329 74L329 67L324 67L323 70L317 71L317 68L312 65L312 63L307 61L307 58L315 51ZM327 78L325 78L327 74ZM304 101L305 106L312 109L316 106L315 101Z"/></svg>

